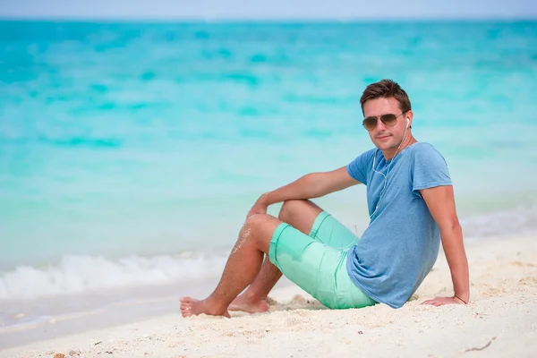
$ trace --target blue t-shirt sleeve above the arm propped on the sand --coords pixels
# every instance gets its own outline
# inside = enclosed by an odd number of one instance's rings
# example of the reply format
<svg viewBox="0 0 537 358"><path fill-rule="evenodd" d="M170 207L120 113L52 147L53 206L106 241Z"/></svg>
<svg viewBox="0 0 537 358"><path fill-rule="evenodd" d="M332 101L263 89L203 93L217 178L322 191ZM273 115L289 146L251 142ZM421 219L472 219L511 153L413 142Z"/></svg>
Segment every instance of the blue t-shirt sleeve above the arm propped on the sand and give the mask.
<svg viewBox="0 0 537 358"><path fill-rule="evenodd" d="M430 144L423 143L414 149L412 190L419 195L420 190L435 186L451 185L446 159Z"/></svg>

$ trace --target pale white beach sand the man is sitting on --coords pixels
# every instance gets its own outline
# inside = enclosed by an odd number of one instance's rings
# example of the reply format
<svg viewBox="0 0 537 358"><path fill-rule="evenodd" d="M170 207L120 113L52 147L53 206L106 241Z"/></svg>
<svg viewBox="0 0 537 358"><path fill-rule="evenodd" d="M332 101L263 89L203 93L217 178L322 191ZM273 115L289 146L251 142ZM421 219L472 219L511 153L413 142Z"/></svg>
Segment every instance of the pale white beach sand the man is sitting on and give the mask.
<svg viewBox="0 0 537 358"><path fill-rule="evenodd" d="M183 319L179 313L0 351L0 357L537 357L537 237L466 243L471 303L451 294L443 254L411 302L330 311L295 286L270 312ZM178 311L178 310L177 310Z"/></svg>

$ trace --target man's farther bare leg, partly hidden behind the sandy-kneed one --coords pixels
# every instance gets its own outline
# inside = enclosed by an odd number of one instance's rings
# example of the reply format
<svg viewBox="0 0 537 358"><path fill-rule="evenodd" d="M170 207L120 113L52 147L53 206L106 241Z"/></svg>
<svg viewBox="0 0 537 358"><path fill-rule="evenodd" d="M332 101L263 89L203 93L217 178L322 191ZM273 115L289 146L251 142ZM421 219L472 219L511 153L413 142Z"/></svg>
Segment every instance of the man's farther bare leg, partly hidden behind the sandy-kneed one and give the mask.
<svg viewBox="0 0 537 358"><path fill-rule="evenodd" d="M279 219L304 234L310 234L315 218L322 212L310 200L289 200L284 202ZM268 254L261 266L260 273L248 289L230 304L231 311L247 311L250 313L268 311L268 293L282 277L280 270L268 260Z"/></svg>

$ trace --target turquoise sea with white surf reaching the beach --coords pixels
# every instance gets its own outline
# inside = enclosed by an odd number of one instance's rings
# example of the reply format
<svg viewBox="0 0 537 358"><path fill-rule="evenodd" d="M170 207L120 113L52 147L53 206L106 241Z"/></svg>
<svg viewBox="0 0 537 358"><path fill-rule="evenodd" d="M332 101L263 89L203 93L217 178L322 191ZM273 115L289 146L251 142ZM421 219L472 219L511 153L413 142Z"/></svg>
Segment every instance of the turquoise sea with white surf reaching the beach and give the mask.
<svg viewBox="0 0 537 358"><path fill-rule="evenodd" d="M262 192L371 148L383 78L465 238L536 232L537 21L0 21L0 347L206 292ZM367 226L363 187L317 202Z"/></svg>

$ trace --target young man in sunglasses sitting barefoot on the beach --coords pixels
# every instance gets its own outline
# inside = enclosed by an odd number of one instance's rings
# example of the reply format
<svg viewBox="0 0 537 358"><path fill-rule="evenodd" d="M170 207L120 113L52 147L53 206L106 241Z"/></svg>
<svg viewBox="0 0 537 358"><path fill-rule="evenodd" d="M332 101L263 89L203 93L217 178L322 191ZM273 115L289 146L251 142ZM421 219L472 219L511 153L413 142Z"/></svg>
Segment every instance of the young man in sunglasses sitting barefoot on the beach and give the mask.
<svg viewBox="0 0 537 358"><path fill-rule="evenodd" d="M468 262L446 161L413 138L410 100L396 82L372 83L360 101L376 148L347 166L263 194L215 291L202 301L181 298L184 317L267 311L268 293L282 273L328 308L399 308L430 272L440 241L454 295L425 303L468 303ZM309 200L358 183L367 185L371 217L361 238ZM279 217L267 215L277 202L284 202Z"/></svg>

